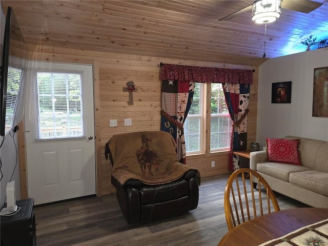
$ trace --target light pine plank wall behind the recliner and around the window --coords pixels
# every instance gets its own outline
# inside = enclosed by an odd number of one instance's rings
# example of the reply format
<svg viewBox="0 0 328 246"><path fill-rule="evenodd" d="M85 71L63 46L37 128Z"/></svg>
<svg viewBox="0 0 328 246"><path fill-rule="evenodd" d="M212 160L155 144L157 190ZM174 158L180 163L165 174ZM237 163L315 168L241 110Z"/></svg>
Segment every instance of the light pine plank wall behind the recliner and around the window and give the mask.
<svg viewBox="0 0 328 246"><path fill-rule="evenodd" d="M256 110L258 67L150 57L117 53L91 52L69 49L36 47L29 59L94 65L95 139L97 167L97 195L115 192L111 185L111 166L105 159L106 142L117 133L160 130L160 62L209 67L255 69L251 86L248 115L248 148L256 138ZM218 59L219 60L219 59ZM134 81L134 105L128 105L128 81ZM125 127L124 119L131 118L132 126ZM110 119L117 119L117 127L109 127ZM215 167L211 168L211 161ZM199 170L201 177L228 173L229 153L202 154L187 157L187 164Z"/></svg>

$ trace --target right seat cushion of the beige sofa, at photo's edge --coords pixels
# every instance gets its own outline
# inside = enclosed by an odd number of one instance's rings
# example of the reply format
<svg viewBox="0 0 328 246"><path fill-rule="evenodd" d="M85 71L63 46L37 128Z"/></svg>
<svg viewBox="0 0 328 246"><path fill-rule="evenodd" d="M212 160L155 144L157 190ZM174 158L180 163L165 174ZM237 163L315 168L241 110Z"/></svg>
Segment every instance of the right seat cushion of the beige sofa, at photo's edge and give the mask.
<svg viewBox="0 0 328 246"><path fill-rule="evenodd" d="M291 173L290 183L328 196L328 173L316 170Z"/></svg>

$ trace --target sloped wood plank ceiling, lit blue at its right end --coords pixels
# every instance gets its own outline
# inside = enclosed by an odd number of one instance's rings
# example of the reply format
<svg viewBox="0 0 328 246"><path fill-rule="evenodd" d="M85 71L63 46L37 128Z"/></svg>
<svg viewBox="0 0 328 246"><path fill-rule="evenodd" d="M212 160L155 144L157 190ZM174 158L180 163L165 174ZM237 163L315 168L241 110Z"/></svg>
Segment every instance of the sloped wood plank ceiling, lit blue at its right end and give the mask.
<svg viewBox="0 0 328 246"><path fill-rule="evenodd" d="M285 0L286 1L286 0ZM297 1L301 2L301 1ZM267 58L328 30L328 1L310 13L282 9L268 24ZM218 21L253 1L1 1L11 6L29 50L74 48L203 61L263 62L264 25L251 11ZM304 46L305 51L305 46ZM243 61L244 63L244 61Z"/></svg>

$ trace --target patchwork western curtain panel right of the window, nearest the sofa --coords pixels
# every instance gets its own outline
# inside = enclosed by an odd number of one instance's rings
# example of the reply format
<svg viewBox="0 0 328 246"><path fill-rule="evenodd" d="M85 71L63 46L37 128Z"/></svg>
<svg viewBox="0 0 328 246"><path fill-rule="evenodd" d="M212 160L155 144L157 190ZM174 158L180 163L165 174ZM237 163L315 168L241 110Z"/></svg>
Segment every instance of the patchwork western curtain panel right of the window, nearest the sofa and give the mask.
<svg viewBox="0 0 328 246"><path fill-rule="evenodd" d="M249 84L222 84L230 116L234 122L231 134L229 170L239 169L239 156L233 151L247 148L247 113L250 98Z"/></svg>

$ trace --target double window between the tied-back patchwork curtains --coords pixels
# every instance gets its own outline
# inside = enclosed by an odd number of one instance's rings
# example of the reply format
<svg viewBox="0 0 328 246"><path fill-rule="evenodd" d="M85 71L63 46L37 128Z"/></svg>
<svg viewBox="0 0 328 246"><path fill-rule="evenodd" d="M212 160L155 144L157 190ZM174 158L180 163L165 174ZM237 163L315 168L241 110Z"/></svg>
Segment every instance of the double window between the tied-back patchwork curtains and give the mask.
<svg viewBox="0 0 328 246"><path fill-rule="evenodd" d="M210 109L208 112L207 108ZM204 126L209 126L208 134ZM192 106L185 122L187 154L204 153L204 149L208 149L204 146L206 142L209 142L211 153L230 150L231 131L232 120L222 84L196 83ZM207 136L210 141L206 141Z"/></svg>

